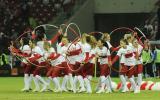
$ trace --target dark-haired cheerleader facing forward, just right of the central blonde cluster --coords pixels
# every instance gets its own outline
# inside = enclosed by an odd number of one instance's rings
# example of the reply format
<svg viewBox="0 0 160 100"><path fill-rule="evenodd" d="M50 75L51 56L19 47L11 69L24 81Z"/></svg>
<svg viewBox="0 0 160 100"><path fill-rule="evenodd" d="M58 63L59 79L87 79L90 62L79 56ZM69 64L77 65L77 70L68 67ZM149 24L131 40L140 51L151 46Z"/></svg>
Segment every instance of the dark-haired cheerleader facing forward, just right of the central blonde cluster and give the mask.
<svg viewBox="0 0 160 100"><path fill-rule="evenodd" d="M111 93L111 85L109 82L110 68L111 66L111 58L110 51L104 46L104 42L99 40L96 47L96 58L98 58L98 64L100 66L100 83L101 89L96 93L105 92L105 85L107 85L106 93Z"/></svg>

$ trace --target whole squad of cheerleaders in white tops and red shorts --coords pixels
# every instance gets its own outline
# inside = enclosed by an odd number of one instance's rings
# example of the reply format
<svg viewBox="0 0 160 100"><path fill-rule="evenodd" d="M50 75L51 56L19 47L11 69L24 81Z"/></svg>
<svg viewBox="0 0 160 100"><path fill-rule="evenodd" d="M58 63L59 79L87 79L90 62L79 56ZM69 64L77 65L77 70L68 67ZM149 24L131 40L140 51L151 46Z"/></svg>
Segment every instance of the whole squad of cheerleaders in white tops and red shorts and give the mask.
<svg viewBox="0 0 160 100"><path fill-rule="evenodd" d="M111 66L119 60L121 92L129 91L127 87L129 80L131 90L134 93L140 93L143 72L141 55L144 45L133 35L126 34L120 40L120 46L116 48L110 44L108 33L104 33L103 38L99 40L84 33L74 43L64 35L56 45L57 50L51 46L55 38L47 40L45 36L38 37L36 42L21 38L19 49L13 45L10 46L12 54L22 59L24 67L22 91L30 91L33 80L34 92L51 91L50 83L52 82L54 92L92 93L91 81L97 66L100 69L100 77L95 89L96 93L112 93ZM117 52L112 59L111 52ZM45 79L41 76L42 69L46 70ZM60 82L62 74L63 79Z"/></svg>

